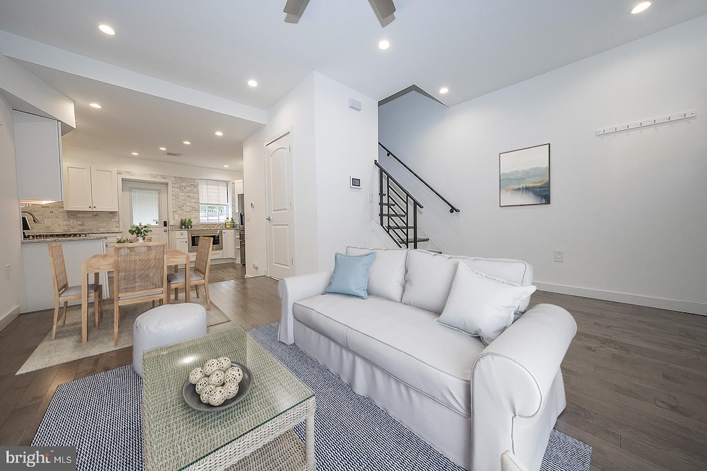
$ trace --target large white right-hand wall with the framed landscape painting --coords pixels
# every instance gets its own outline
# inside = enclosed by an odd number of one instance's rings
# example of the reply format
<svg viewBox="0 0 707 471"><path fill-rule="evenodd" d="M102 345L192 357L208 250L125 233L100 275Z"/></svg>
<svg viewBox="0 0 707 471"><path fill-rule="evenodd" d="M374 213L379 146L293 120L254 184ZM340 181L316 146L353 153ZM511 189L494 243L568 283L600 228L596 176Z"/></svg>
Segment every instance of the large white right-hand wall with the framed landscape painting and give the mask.
<svg viewBox="0 0 707 471"><path fill-rule="evenodd" d="M462 210L414 191L453 254L528 261L545 290L707 314L706 52L702 16L449 109L409 94L380 108L380 140ZM498 154L544 143L551 204L499 208Z"/></svg>

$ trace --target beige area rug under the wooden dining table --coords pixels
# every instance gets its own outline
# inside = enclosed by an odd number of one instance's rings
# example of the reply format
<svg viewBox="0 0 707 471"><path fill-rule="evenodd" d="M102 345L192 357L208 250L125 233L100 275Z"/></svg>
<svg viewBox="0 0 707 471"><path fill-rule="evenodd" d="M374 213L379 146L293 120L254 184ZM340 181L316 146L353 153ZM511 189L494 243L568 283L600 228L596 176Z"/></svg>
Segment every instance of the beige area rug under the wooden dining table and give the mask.
<svg viewBox="0 0 707 471"><path fill-rule="evenodd" d="M184 302L183 299L182 301ZM202 296L192 296L191 302L206 307L206 299ZM66 313L66 325L62 326L62 311L59 311L57 324L57 338L52 340L52 332L42 340L40 345L27 359L25 364L16 374L24 374L37 369L48 368L57 364L73 362L76 359L93 357L111 350L118 350L132 345L132 328L135 318L152 309L152 302L142 302L129 306L120 306L120 327L118 328L118 346L113 346L113 303L112 300L103 302L103 318L100 327L95 330L93 317L93 303L88 308L88 342L81 343L81 307L69 306ZM53 316L51 312L47 316ZM211 302L211 309L206 311L206 325L209 332L214 328L224 328L233 324L230 319Z"/></svg>

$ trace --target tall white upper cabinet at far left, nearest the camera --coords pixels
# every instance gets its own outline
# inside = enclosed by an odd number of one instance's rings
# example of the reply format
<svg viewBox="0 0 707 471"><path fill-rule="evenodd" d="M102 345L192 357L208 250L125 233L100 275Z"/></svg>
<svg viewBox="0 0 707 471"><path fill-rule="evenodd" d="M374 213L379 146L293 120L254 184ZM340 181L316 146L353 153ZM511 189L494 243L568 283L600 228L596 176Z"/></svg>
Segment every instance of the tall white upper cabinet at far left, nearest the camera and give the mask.
<svg viewBox="0 0 707 471"><path fill-rule="evenodd" d="M13 121L20 201L63 201L62 124L19 111Z"/></svg>

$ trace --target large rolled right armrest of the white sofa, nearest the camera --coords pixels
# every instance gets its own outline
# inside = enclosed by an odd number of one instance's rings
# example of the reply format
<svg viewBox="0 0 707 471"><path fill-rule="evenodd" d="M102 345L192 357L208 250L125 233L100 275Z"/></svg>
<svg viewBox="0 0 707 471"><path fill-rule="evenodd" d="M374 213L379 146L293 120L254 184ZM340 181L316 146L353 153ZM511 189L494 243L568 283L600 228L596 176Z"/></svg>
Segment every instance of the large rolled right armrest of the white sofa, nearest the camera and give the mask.
<svg viewBox="0 0 707 471"><path fill-rule="evenodd" d="M538 304L481 352L472 366L472 450L489 453L473 453L472 469L496 469L503 451L523 448L515 421L542 412L576 332L565 309Z"/></svg>

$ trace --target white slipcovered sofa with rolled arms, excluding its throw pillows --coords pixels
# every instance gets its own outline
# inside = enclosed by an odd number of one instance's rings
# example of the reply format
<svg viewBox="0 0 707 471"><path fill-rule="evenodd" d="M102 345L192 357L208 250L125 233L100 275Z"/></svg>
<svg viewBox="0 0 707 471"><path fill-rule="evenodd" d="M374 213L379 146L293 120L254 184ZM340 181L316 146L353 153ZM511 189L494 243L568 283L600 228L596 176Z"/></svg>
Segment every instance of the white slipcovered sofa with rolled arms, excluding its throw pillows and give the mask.
<svg viewBox="0 0 707 471"><path fill-rule="evenodd" d="M510 450L539 469L566 405L560 363L576 333L572 316L551 304L525 311L527 296L513 323L484 345L435 322L458 265L521 286L532 285L532 266L373 251L367 299L322 294L331 272L280 280L279 340L298 345L464 468L499 470L501 454ZM368 252L346 249L348 256Z"/></svg>

